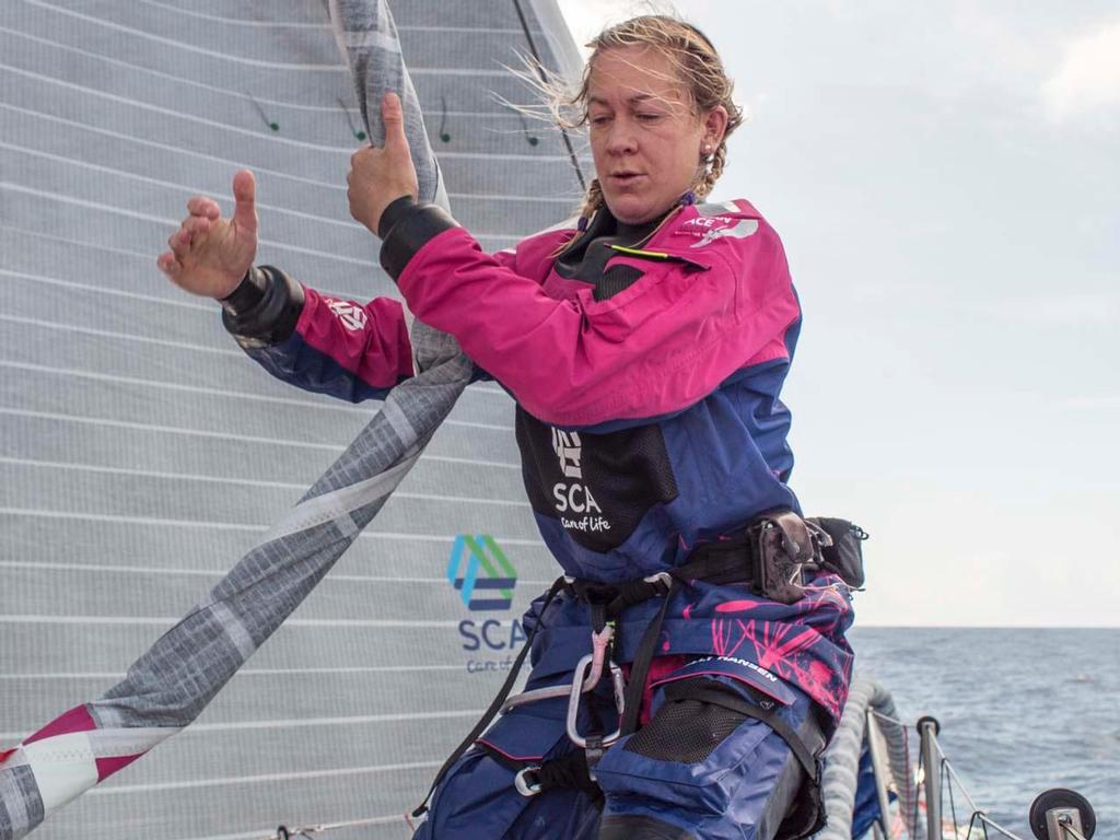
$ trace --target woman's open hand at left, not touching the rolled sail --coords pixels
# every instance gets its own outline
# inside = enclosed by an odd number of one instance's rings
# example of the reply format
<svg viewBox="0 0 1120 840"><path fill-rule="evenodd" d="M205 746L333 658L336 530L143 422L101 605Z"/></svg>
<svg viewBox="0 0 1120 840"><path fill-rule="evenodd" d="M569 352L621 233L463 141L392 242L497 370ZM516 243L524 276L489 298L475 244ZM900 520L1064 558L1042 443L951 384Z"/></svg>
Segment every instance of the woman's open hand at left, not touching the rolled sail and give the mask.
<svg viewBox="0 0 1120 840"><path fill-rule="evenodd" d="M236 206L232 220L222 217L213 198L190 198L189 215L167 240L171 250L157 260L160 271L192 295L228 297L253 264L256 183L248 169L233 176L233 197Z"/></svg>

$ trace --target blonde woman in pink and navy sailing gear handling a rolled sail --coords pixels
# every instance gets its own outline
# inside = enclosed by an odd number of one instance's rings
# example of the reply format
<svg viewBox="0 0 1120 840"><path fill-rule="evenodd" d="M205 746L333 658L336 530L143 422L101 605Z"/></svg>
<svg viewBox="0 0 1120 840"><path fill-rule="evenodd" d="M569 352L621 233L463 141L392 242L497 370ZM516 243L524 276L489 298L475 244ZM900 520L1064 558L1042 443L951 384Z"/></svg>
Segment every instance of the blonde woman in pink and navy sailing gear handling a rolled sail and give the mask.
<svg viewBox="0 0 1120 840"><path fill-rule="evenodd" d="M575 104L598 177L578 225L484 253L416 200L393 95L385 146L352 159L351 212L411 311L515 398L525 487L566 576L526 615L526 693L441 774L417 837L804 836L851 610L839 578L811 571L787 485L778 394L800 305L762 215L701 203L741 121L710 41L646 16L590 46ZM411 375L401 306L342 317L253 267L249 172L234 193L232 220L190 199L159 259L171 280L221 299L242 347L301 388L360 401Z"/></svg>

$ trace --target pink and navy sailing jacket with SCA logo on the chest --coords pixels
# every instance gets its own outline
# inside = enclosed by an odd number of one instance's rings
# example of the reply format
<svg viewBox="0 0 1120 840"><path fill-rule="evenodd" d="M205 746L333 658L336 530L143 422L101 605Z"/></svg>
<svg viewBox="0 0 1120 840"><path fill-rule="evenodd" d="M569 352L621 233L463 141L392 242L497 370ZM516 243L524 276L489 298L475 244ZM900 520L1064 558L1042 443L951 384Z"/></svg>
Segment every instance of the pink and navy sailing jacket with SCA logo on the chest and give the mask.
<svg viewBox="0 0 1120 840"><path fill-rule="evenodd" d="M385 217L382 264L411 311L516 400L525 488L567 575L648 576L763 511L799 510L780 392L801 308L782 243L749 203L673 211L641 248L612 246L598 284L558 271L571 228L487 254L435 207L391 205ZM226 324L274 375L355 402L411 375L398 302L336 300L253 271L267 327L232 311ZM673 652L744 656L837 713L847 598L825 586L786 606L721 589L673 610Z"/></svg>

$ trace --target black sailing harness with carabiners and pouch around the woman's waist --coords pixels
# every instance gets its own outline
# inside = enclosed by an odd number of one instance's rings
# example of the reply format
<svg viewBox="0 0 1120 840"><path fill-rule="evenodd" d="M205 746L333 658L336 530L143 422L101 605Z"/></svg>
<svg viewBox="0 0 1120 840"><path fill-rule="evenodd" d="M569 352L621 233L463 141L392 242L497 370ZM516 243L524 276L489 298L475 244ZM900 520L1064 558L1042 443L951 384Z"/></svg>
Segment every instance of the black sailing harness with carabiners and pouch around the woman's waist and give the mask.
<svg viewBox="0 0 1120 840"><path fill-rule="evenodd" d="M544 595L538 613L540 620L530 629L497 696L463 743L444 762L423 802L411 812L411 816L424 816L428 803L444 776L500 712L504 713L525 703L563 697L568 698L568 737L577 749L538 765L519 765L514 786L523 796L573 787L585 791L592 800L601 800L603 793L595 781L595 765L615 741L638 729L638 715L650 665L669 604L681 587L694 582L739 584L759 596L783 604L793 604L804 597L806 572L823 570L838 573L849 586L859 587L864 582L859 543L866 539L867 533L847 520L802 520L791 511L775 511L757 516L735 536L697 547L685 563L656 575L617 584L572 577L558 578ZM534 689L511 698L510 692L532 650L533 641L543 624L543 616L561 591L584 601L590 609L591 653L576 665L571 683ZM629 607L651 598L662 598L661 609L646 625L631 663L629 678L626 679L622 668L612 660L618 622ZM580 732L578 718L581 698L596 688L606 674L609 674L618 711L618 728L607 735ZM685 689L683 682L699 682L700 688L689 685ZM719 706L768 726L788 745L805 772L811 795L819 799L822 772L820 753L823 747L821 750L811 750L794 728L775 711L750 703L729 691L721 691L719 683L697 680L682 683L665 687L666 700L685 699L683 692L687 691L687 699ZM707 688L704 683L708 683ZM502 760L501 757L498 759Z"/></svg>

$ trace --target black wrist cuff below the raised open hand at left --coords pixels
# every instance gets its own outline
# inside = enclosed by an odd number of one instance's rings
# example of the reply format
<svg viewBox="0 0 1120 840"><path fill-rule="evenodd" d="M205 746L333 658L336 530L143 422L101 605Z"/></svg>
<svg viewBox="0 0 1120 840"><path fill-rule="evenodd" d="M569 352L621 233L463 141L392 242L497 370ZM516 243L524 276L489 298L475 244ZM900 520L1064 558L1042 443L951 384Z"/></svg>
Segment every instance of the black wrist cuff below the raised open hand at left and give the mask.
<svg viewBox="0 0 1120 840"><path fill-rule="evenodd" d="M263 347L288 340L302 310L302 286L280 269L254 265L222 300L222 324L242 347Z"/></svg>

